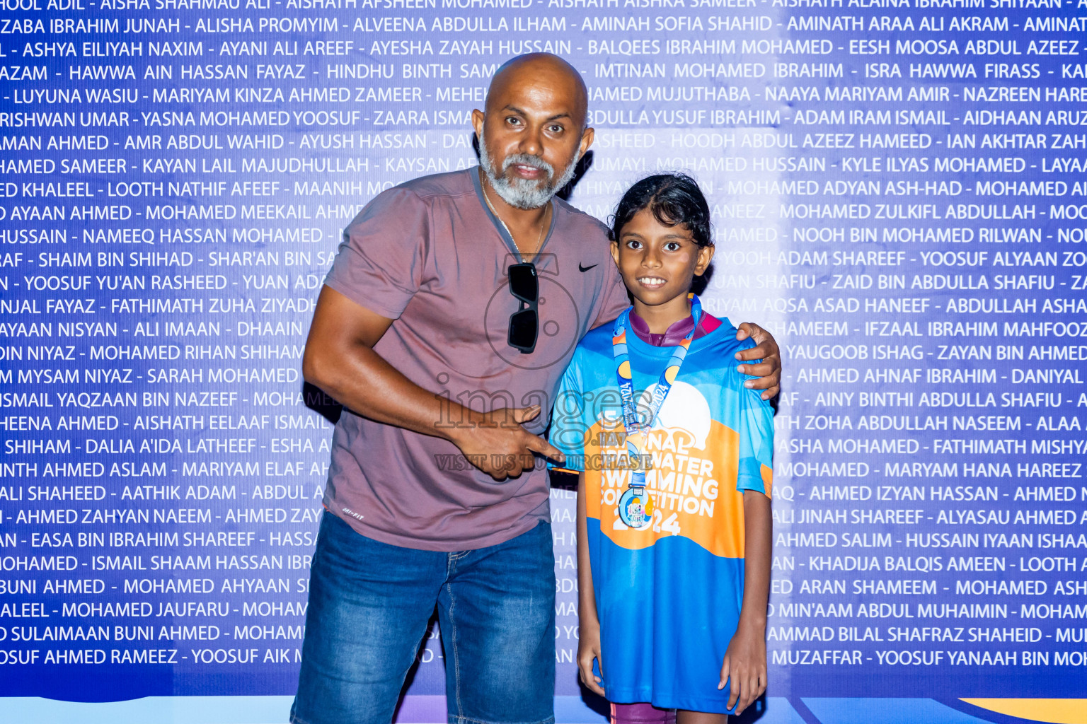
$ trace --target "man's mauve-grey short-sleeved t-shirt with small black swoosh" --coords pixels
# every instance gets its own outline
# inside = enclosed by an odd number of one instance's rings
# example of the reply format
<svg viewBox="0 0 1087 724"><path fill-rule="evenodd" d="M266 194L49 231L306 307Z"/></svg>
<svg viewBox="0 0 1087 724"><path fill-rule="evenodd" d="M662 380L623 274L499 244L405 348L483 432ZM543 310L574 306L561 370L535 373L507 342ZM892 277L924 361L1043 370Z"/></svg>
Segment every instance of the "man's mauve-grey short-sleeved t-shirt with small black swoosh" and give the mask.
<svg viewBox="0 0 1087 724"><path fill-rule="evenodd" d="M487 208L477 168L383 192L343 231L325 283L393 319L374 350L424 390L478 411L542 408L540 434L577 341L627 306L600 221L554 199L532 261L539 279L536 350L507 343L520 303L507 269L521 262ZM442 405L442 424L453 424ZM501 482L452 443L343 410L333 436L325 506L359 533L397 546L467 550L548 518L548 473Z"/></svg>

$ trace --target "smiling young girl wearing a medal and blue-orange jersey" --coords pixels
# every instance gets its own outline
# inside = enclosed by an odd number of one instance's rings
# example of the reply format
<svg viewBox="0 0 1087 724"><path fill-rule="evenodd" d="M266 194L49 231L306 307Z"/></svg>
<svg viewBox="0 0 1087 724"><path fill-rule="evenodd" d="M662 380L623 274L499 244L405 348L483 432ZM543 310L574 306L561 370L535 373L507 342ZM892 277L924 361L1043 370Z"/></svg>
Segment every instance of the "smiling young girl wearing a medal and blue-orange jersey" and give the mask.
<svg viewBox="0 0 1087 724"><path fill-rule="evenodd" d="M634 306L578 345L551 432L580 473L582 681L615 722L720 724L766 687L773 412L736 370L752 343L688 293L713 258L695 181L635 183L611 239Z"/></svg>

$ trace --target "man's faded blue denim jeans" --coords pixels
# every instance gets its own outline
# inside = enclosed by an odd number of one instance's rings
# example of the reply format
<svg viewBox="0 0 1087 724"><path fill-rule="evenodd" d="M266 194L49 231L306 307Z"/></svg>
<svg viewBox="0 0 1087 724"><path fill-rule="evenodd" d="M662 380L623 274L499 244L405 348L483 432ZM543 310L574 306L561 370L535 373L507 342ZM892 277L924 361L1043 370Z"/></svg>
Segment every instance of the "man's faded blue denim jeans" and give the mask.
<svg viewBox="0 0 1087 724"><path fill-rule="evenodd" d="M454 724L554 721L551 524L459 552L378 543L325 513L295 724L389 724L438 607Z"/></svg>

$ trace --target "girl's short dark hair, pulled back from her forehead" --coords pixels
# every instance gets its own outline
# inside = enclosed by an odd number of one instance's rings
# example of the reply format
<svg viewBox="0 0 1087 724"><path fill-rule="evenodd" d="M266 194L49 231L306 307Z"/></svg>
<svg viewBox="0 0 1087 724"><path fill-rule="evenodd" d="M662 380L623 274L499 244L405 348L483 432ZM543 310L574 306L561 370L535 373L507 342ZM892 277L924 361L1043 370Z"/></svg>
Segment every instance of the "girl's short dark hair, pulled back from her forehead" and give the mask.
<svg viewBox="0 0 1087 724"><path fill-rule="evenodd" d="M619 241L623 227L642 208L652 211L664 226L687 227L699 246L713 243L710 205L695 179L686 174L647 176L627 189L615 208L609 238Z"/></svg>

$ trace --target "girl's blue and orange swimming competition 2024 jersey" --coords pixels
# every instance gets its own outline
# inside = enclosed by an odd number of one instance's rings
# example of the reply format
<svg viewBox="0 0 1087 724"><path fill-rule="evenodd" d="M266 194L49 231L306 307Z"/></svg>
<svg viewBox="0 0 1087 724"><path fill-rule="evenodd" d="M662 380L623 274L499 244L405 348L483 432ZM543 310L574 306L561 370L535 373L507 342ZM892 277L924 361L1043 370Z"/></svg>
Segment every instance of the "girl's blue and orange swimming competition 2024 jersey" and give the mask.
<svg viewBox="0 0 1087 724"><path fill-rule="evenodd" d="M635 439L637 462L627 453L610 325L583 339L555 397L551 444L565 468L585 472L611 701L727 711L728 690L716 684L742 600L742 496L771 494L773 410L736 371L734 355L752 343L737 342L724 321L691 342L653 425ZM626 336L641 410L672 348ZM637 505L652 521L641 529L619 516L635 467L649 498Z"/></svg>

